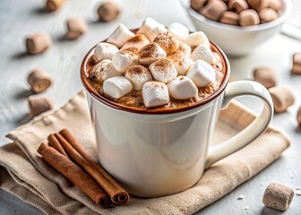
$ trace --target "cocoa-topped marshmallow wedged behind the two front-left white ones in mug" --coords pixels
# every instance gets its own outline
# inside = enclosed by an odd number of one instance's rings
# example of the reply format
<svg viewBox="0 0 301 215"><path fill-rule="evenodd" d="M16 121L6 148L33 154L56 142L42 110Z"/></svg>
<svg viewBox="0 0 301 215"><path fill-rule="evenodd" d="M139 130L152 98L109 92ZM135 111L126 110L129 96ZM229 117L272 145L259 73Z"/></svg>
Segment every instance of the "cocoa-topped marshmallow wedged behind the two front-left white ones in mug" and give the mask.
<svg viewBox="0 0 301 215"><path fill-rule="evenodd" d="M143 84L152 80L150 70L142 65L133 65L128 68L125 78L132 82L133 90L142 90Z"/></svg>

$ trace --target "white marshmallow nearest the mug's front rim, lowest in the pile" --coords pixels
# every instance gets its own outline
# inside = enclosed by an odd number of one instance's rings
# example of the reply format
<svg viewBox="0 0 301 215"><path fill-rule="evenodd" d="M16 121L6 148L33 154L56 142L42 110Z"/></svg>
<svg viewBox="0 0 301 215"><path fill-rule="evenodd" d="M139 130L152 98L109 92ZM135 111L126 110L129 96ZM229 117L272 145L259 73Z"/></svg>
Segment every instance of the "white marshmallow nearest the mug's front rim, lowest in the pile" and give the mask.
<svg viewBox="0 0 301 215"><path fill-rule="evenodd" d="M146 82L142 87L145 107L159 107L169 102L168 86L162 82Z"/></svg>

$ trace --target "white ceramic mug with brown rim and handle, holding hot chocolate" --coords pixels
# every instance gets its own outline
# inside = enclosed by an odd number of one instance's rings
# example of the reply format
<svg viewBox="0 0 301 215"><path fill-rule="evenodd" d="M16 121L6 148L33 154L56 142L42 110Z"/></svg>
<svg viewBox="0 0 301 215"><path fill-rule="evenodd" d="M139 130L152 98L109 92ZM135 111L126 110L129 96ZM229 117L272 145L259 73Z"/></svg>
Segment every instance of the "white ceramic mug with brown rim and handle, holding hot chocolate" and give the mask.
<svg viewBox="0 0 301 215"><path fill-rule="evenodd" d="M87 79L86 64L93 48L82 62L82 83L87 90L98 142L99 162L131 194L157 197L181 192L196 184L211 164L253 142L269 125L273 114L271 96L260 83L228 83L202 103L185 110L139 113L120 107L99 96ZM219 110L229 100L251 95L264 103L262 113L245 130L227 142L209 147Z"/></svg>

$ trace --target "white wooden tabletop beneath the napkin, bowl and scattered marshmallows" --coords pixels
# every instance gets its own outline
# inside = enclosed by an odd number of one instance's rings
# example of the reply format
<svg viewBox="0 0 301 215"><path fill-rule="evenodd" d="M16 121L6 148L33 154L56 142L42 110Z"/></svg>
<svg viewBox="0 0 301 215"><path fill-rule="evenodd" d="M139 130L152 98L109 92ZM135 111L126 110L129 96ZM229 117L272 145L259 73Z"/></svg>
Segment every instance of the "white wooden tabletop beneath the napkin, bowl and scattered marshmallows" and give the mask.
<svg viewBox="0 0 301 215"><path fill-rule="evenodd" d="M44 13L44 0L0 1L0 145L9 140L4 135L18 125L30 120L27 97L30 95L26 82L32 68L40 67L50 73L55 84L45 93L53 98L56 107L63 105L82 88L79 69L82 57L98 41L105 39L123 22L129 28L141 25L150 16L168 25L182 22L194 30L185 10L175 0L119 0L123 12L114 22L97 22L96 7L99 1L69 0L62 10ZM295 13L289 22L301 26L301 2L294 0ZM64 21L71 16L82 16L89 32L78 41L64 41ZM54 46L39 56L25 54L24 37L39 30L47 30L54 39ZM290 76L291 54L301 51L301 42L277 35L249 56L229 59L235 80L252 78L256 65L270 65L278 72L279 83L294 90L296 104L288 112L274 116L272 125L281 128L292 140L292 147L269 168L232 193L211 204L198 214L280 214L262 206L262 193L271 181L278 181L294 189L301 186L301 130L297 129L296 111L301 105L301 76ZM247 106L259 111L256 99L240 99ZM271 142L272 144L272 142ZM244 200L237 200L239 195ZM295 195L288 211L281 214L301 214L301 196ZM248 207L248 210L245 210ZM20 201L13 195L0 191L0 214L41 214L38 209Z"/></svg>

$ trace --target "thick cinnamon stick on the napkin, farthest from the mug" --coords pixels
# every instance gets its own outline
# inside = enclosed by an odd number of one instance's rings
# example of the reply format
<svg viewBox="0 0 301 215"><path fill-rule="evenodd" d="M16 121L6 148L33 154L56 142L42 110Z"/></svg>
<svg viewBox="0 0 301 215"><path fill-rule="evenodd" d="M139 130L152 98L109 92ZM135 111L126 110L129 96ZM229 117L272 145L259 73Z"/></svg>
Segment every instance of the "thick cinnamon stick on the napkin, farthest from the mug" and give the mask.
<svg viewBox="0 0 301 215"><path fill-rule="evenodd" d="M110 200L101 187L82 168L75 165L51 146L42 143L38 152L42 158L63 176L67 177L73 185L77 186L83 193L86 193L96 204L107 207Z"/></svg>

